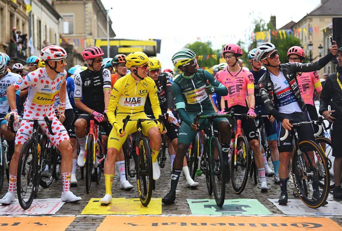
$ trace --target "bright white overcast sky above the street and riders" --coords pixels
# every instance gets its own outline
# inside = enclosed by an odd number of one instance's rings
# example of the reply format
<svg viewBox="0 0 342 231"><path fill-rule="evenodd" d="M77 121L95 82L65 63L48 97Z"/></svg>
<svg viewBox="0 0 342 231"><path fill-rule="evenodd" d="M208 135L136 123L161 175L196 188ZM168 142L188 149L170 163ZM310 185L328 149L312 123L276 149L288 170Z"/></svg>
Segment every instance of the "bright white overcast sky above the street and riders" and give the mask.
<svg viewBox="0 0 342 231"><path fill-rule="evenodd" d="M198 41L197 37L203 42L212 41L213 49L221 49L223 44L246 40L253 18L261 17L268 23L271 15L275 15L276 26L280 28L291 20L298 22L321 0L102 2L107 10L113 8L109 16L116 38L162 39L157 57L164 70L173 69L172 55L187 43Z"/></svg>

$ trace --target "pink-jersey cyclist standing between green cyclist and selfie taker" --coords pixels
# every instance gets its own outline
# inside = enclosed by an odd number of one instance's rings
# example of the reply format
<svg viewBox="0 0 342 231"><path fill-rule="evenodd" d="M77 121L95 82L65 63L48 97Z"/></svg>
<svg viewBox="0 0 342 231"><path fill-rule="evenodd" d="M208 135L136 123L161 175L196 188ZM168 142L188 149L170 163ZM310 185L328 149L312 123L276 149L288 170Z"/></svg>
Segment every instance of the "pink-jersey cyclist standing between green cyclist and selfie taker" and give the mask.
<svg viewBox="0 0 342 231"><path fill-rule="evenodd" d="M224 105L222 103L223 101L221 101L221 107L225 107L226 112L233 108L236 114L250 115L248 119L241 119L241 127L255 155L255 164L261 177L260 189L263 192L267 192L268 185L265 177L264 160L261 154L257 127L254 120L257 116L254 112L254 77L251 72L237 65L240 56L242 56L240 46L233 43L225 45L223 48L223 57L228 66L216 73L215 79L228 89L228 95L223 97ZM246 101L247 93L248 103Z"/></svg>

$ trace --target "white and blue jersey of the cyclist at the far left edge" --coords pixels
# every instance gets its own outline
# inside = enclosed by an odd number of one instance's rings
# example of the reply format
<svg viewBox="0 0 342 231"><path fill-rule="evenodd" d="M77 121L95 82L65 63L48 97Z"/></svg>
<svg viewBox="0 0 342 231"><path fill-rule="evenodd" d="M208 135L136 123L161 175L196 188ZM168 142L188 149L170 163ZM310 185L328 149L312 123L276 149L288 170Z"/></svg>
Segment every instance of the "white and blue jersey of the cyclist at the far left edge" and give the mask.
<svg viewBox="0 0 342 231"><path fill-rule="evenodd" d="M19 74L15 74L7 71L4 76L0 78L0 114L8 113L10 109L10 104L7 99L7 88L14 84L15 82L21 80L21 76ZM20 91L17 91L16 94L20 94Z"/></svg>

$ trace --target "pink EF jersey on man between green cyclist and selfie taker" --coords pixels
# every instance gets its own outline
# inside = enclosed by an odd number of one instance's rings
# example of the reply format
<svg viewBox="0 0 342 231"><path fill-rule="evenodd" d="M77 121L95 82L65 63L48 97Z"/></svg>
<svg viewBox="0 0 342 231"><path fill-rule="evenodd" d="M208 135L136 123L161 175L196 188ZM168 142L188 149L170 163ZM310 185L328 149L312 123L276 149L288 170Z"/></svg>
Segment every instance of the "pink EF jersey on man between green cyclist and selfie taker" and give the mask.
<svg viewBox="0 0 342 231"><path fill-rule="evenodd" d="M228 107L234 105L246 105L247 93L254 96L254 77L253 74L245 69L239 73L229 73L228 66L215 75L215 79L227 87L228 95L223 99L227 100ZM237 76L235 76L237 75Z"/></svg>

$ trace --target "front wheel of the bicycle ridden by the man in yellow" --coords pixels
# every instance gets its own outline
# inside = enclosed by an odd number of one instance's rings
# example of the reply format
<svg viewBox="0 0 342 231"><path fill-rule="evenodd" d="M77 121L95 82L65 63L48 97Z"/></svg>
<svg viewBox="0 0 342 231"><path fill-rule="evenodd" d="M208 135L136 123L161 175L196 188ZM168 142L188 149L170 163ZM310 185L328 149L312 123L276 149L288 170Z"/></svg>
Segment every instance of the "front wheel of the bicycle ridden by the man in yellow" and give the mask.
<svg viewBox="0 0 342 231"><path fill-rule="evenodd" d="M153 188L153 169L151 149L145 138L140 137L138 141L139 161L136 169L136 185L138 188L139 199L143 206L147 206L151 201Z"/></svg>

